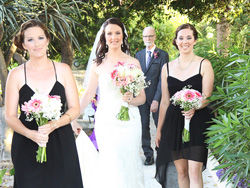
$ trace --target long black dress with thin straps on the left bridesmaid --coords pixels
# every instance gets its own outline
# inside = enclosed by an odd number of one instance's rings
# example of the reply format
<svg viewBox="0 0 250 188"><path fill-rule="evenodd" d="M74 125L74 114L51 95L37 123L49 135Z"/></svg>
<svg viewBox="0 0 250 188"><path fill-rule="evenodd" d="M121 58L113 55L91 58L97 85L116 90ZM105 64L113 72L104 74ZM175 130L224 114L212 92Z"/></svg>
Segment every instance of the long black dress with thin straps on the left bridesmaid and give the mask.
<svg viewBox="0 0 250 188"><path fill-rule="evenodd" d="M53 63L54 65L54 63ZM31 99L34 91L27 85L26 66L25 84L19 91L19 105ZM56 71L56 70L55 70ZM56 72L55 72L56 76ZM64 86L57 81L49 93L61 96L66 107ZM35 121L26 121L26 115L21 111L21 122L29 129L37 130ZM82 178L71 125L65 125L49 135L47 143L47 162L36 162L38 145L32 140L14 132L11 157L15 167L14 188L82 188Z"/></svg>

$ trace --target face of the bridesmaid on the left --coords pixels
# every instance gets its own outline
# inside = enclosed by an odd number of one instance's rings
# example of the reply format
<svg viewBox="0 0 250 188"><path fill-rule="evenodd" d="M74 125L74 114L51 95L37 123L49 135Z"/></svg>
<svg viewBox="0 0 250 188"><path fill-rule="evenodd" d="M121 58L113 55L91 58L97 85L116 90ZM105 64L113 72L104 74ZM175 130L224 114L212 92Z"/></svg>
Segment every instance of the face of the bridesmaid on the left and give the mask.
<svg viewBox="0 0 250 188"><path fill-rule="evenodd" d="M30 57L45 56L48 44L49 39L40 27L30 27L25 30L23 48L29 52Z"/></svg>

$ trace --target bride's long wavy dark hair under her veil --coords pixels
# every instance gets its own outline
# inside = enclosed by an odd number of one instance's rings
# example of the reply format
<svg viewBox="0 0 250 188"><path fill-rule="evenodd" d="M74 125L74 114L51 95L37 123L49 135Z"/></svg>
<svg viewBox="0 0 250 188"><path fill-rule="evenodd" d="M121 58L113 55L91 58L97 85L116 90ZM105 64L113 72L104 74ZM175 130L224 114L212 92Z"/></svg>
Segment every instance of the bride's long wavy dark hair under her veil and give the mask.
<svg viewBox="0 0 250 188"><path fill-rule="evenodd" d="M109 24L116 24L122 29L123 45L121 46L121 50L126 54L130 54L128 36L125 32L125 27L123 23L118 18L109 18L102 25L103 31L102 34L100 35L100 40L96 47L96 58L94 59L94 61L97 63L97 65L100 65L102 63L105 54L108 52L108 48L106 48L105 28Z"/></svg>

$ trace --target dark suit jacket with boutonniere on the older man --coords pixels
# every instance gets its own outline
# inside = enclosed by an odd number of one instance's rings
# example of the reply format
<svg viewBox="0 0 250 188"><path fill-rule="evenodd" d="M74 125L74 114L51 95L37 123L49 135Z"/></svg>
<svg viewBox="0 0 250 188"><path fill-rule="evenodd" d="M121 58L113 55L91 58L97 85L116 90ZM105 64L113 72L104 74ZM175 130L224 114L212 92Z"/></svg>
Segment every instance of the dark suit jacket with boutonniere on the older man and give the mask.
<svg viewBox="0 0 250 188"><path fill-rule="evenodd" d="M146 48L137 52L135 58L139 60L146 81L151 81L149 87L145 88L146 102L151 105L153 100L161 100L161 69L169 61L168 53L155 48L148 68L146 69Z"/></svg>

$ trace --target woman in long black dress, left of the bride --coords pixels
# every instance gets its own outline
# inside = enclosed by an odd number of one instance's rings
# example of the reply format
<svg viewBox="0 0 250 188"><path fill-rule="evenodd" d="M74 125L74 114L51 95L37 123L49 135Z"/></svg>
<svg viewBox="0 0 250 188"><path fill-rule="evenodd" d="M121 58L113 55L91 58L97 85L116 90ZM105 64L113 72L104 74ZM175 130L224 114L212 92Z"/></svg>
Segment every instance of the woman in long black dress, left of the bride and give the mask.
<svg viewBox="0 0 250 188"><path fill-rule="evenodd" d="M27 50L29 60L11 70L6 86L6 122L14 130L11 157L15 167L14 188L82 188L81 172L71 120L79 115L79 99L71 69L47 58L49 33L37 20L25 22L14 38ZM29 101L34 91L59 95L63 104L57 121L38 128L26 121L18 105ZM66 109L67 103L67 110ZM38 145L47 144L47 162L36 161Z"/></svg>

